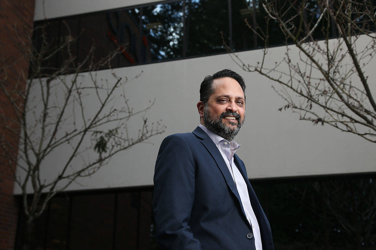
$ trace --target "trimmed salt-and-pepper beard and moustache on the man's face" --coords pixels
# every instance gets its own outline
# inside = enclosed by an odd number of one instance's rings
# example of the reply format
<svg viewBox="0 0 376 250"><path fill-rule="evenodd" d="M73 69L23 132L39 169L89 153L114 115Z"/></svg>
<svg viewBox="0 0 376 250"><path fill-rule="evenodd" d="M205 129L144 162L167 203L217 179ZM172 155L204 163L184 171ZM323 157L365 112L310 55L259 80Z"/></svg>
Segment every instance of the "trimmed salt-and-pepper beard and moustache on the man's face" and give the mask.
<svg viewBox="0 0 376 250"><path fill-rule="evenodd" d="M236 118L238 123L232 123L230 121L223 121L223 118L226 116L233 116ZM209 111L209 107L205 106L204 108L204 125L210 131L221 136L227 141L232 141L238 135L241 126L243 126L244 119L241 119L240 115L237 112L223 112L219 116L214 116ZM232 127L231 125L236 125Z"/></svg>

